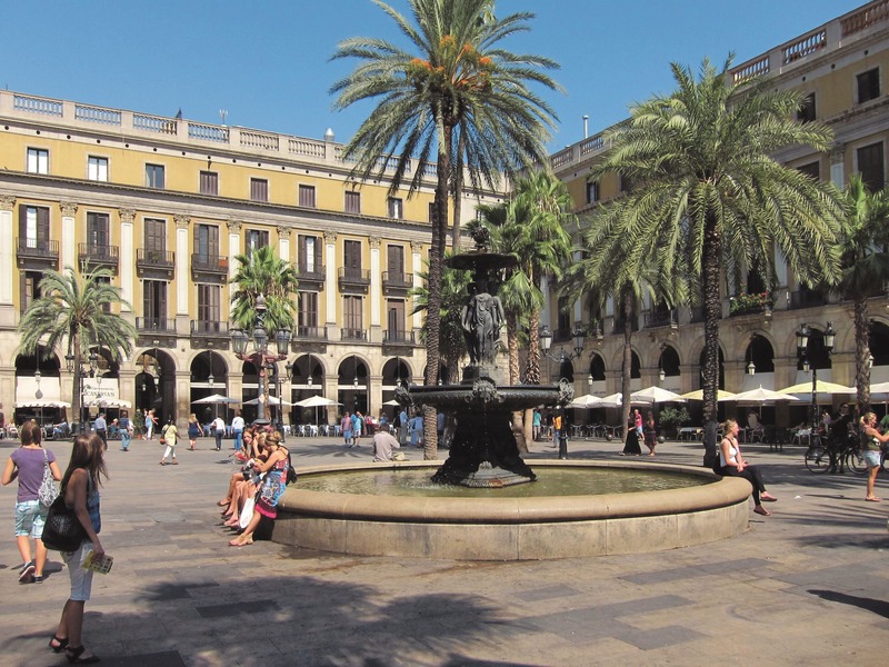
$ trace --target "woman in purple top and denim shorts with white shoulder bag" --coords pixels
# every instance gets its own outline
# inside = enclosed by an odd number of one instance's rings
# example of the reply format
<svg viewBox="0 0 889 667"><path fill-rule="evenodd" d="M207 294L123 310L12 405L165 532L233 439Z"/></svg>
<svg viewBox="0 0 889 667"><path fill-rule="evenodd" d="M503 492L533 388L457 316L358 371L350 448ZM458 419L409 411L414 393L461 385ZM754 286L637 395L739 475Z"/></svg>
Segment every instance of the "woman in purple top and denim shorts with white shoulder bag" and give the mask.
<svg viewBox="0 0 889 667"><path fill-rule="evenodd" d="M26 421L19 429L21 447L7 460L3 470L3 486L13 479L19 480L19 495L16 498L16 542L19 546L22 565L19 581L40 584L43 581L43 566L47 563L47 548L40 539L48 507L40 505L38 491L43 481L43 467L49 465L52 478L62 478L56 455L40 446L41 430L36 421ZM31 538L34 540L34 559L31 558Z"/></svg>

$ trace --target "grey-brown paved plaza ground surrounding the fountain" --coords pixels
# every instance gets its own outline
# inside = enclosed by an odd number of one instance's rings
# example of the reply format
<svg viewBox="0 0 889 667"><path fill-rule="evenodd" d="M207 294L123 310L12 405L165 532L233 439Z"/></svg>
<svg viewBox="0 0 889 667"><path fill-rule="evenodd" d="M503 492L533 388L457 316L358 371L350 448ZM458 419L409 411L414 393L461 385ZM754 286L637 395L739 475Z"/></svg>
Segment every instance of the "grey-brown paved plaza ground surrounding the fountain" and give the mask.
<svg viewBox="0 0 889 667"><path fill-rule="evenodd" d="M289 438L294 464L370 461L369 447ZM66 467L70 444L49 442ZM226 441L231 447L231 441ZM13 444L0 441L3 459ZM572 458L620 445L572 440ZM111 442L102 544L84 644L103 665L566 666L879 665L889 650L889 480L813 476L803 448L748 445L779 501L737 538L640 556L533 563L341 557L270 541L232 548L216 506L233 469L202 439L158 466L157 440ZM447 452L442 452L447 454ZM536 444L531 458L555 458ZM421 454L409 451L408 458ZM698 465L698 442L656 461ZM0 665L67 664L47 648L68 597L50 552L46 581L19 585L14 484L0 491ZM752 506L751 506L752 509Z"/></svg>

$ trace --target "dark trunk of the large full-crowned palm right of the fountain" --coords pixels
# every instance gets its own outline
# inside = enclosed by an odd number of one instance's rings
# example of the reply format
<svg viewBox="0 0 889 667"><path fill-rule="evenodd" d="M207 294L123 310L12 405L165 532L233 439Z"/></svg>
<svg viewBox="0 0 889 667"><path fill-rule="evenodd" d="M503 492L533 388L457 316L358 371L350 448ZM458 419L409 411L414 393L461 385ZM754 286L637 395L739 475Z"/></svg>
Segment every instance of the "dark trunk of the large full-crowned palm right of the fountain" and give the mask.
<svg viewBox="0 0 889 667"><path fill-rule="evenodd" d="M716 462L717 391L719 389L719 320L722 308L719 300L719 260L721 239L716 219L707 215L703 232L703 465Z"/></svg>

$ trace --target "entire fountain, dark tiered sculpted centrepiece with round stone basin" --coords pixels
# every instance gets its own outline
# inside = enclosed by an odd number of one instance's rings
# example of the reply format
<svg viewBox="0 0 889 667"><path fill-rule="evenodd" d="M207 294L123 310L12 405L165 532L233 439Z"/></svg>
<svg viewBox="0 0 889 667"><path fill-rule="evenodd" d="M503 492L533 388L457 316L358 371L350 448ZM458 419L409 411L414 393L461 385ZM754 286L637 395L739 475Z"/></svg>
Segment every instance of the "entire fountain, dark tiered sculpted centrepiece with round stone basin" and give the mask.
<svg viewBox="0 0 889 667"><path fill-rule="evenodd" d="M279 502L273 539L339 554L523 560L657 551L746 530L750 485L737 477L720 479L703 468L537 460L541 475L568 478L566 489L538 491L537 475L519 455L511 415L533 406L563 406L573 389L566 381L503 384L496 364L503 319L497 288L515 259L488 252L486 236L473 236L478 249L450 260L452 267L472 271L462 317L470 364L459 385L398 392L403 404L456 415L450 456L443 465L300 469L300 484ZM572 474L590 477L593 471L657 477L657 490L618 485L591 492L570 481ZM422 484L410 482L416 479Z"/></svg>

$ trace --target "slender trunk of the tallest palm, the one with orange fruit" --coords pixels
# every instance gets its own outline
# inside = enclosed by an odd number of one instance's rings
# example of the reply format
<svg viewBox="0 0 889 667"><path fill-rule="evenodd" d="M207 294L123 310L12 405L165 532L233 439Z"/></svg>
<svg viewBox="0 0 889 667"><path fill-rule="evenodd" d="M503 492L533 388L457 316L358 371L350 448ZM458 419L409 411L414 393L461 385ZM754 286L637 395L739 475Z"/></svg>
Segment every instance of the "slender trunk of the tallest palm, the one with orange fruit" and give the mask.
<svg viewBox="0 0 889 667"><path fill-rule="evenodd" d="M426 311L426 385L438 384L441 361L439 336L441 332L441 272L444 259L444 232L448 225L448 186L450 183L450 145L452 127L444 126L442 148L436 166L436 215L432 220L432 245L429 249L429 298ZM437 414L433 406L423 406L423 459L438 458Z"/></svg>

